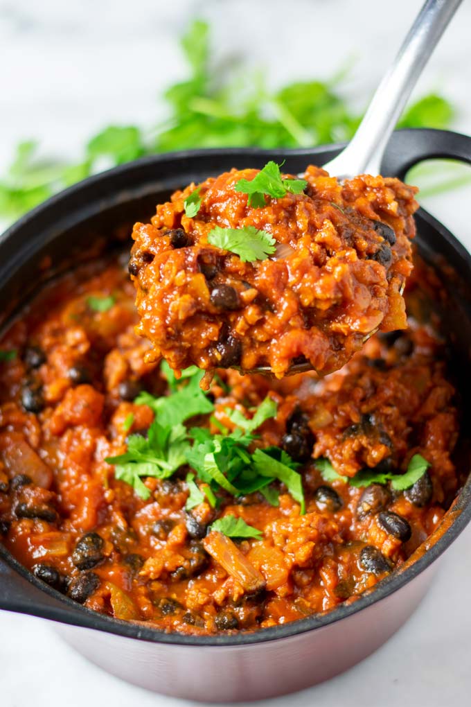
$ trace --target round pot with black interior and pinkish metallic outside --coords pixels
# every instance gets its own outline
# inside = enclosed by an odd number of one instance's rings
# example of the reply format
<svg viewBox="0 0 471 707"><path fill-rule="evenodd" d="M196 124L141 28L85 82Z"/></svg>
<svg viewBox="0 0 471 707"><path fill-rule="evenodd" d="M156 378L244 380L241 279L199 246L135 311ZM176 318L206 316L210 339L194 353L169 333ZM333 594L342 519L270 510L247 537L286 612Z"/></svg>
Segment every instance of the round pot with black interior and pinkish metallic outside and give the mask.
<svg viewBox="0 0 471 707"><path fill-rule="evenodd" d="M315 150L227 149L144 158L67 189L12 226L0 242L0 293L4 320L15 314L53 269L81 261L90 246L112 247L122 224L143 221L158 201L192 180L233 166L260 168L268 159L300 172L323 164L340 146ZM393 135L382 173L400 178L427 158L471 162L471 138L451 132L407 130ZM441 223L422 209L415 241L422 259L443 283L435 309L446 312L443 332L453 366L471 359L471 257ZM129 232L128 232L129 233ZM129 243L126 244L129 247ZM122 239L121 239L121 247ZM438 288L437 288L438 292ZM463 391L469 407L471 396ZM464 411L463 429L469 429ZM466 464L469 457L466 460ZM201 701L246 701L299 690L346 670L384 643L422 600L436 560L471 518L471 479L431 547L374 590L325 616L313 616L256 633L182 636L102 616L42 583L0 545L0 609L58 622L57 630L83 655L129 682Z"/></svg>

